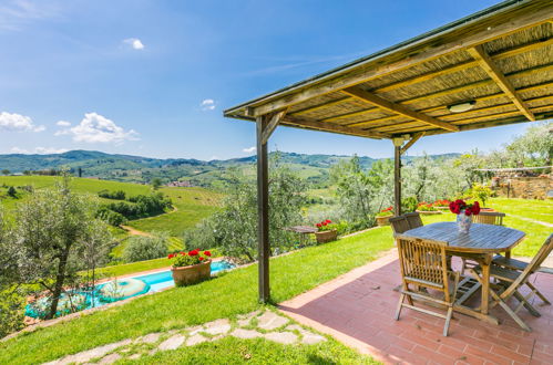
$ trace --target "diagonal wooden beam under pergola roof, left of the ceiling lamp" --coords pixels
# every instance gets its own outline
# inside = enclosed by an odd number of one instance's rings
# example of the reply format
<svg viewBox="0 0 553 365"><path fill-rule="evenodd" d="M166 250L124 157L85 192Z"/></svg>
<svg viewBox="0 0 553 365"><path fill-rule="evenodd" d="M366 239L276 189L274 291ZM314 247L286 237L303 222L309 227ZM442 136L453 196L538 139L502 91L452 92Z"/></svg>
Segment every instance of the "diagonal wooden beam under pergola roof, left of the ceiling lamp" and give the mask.
<svg viewBox="0 0 553 365"><path fill-rule="evenodd" d="M430 125L433 125L433 126L437 126L437 127L440 127L443 129L448 129L448 131L452 131L452 132L459 131L459 128L452 124L438 121L438 119L436 119L431 116L428 116L426 114L412 111L403 105L392 103L390 101L387 101L386 98L382 98L382 97L377 96L372 93L369 93L369 92L367 92L358 86L345 88L345 90L342 90L342 92L348 94L348 95L351 95L354 97L357 97L359 100L366 101L366 102L368 102L372 105L376 105L378 107L381 107L386 111L389 111L391 113L400 114L400 115L403 115L403 116L413 118L416 121L420 121L422 123L427 123L427 124L430 124Z"/></svg>

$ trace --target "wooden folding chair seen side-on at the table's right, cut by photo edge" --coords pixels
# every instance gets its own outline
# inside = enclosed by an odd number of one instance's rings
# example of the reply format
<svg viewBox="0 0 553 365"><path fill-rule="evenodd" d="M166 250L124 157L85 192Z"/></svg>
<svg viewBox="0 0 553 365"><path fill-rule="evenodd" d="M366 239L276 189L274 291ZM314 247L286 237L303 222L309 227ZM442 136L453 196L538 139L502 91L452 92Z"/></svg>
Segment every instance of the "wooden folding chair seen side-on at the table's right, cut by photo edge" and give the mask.
<svg viewBox="0 0 553 365"><path fill-rule="evenodd" d="M522 319L516 314L523 306L534 316L540 316L540 312L532 306L529 302L530 299L534 295L539 295L542 300L542 294L537 291L537 289L530 282L530 275L534 273L542 262L547 258L547 255L553 250L553 233L545 240L545 242L537 251L537 254L532 259L532 261L524 268L524 270L512 270L505 267L492 265L490 269L490 277L499 280L499 285L494 285L498 288L498 291L494 291L490 288L490 294L492 295L494 302L492 303L492 307L495 305L500 305L505 310L505 312L525 331L531 332L532 330L528 326L528 324L522 321ZM475 267L470 269L474 278L482 283L482 278L480 277L481 268ZM519 291L523 285L530 288L530 293L524 296ZM540 293L540 294L537 294ZM512 310L508 304L508 300L514 296L519 301L519 305Z"/></svg>

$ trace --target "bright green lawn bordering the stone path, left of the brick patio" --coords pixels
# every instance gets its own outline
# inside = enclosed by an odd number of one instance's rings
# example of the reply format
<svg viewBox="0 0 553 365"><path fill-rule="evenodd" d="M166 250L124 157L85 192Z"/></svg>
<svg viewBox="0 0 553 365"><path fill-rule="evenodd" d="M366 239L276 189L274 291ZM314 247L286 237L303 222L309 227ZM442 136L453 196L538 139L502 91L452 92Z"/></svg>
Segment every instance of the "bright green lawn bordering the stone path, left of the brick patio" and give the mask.
<svg viewBox="0 0 553 365"><path fill-rule="evenodd" d="M383 227L275 258L270 261L272 298L275 302L281 302L298 295L373 260L392 246L390 228ZM254 311L258 306L257 265L254 264L197 285L144 295L125 305L41 328L1 343L0 364L48 362L127 337L206 323L221 317L234 317ZM214 352L215 347L212 346L219 346L218 344L219 342L206 344L205 346L209 347L206 351ZM349 358L357 356L334 341L318 345L320 346L318 350L283 347L280 351L279 346L273 343L257 345L247 342L247 345L259 346L259 350L253 350L254 354L274 346L275 350L267 356L281 354L279 356L284 356L283 358L290 356L289 358L301 359L307 356L340 362L345 354ZM228 351L228 356L234 356L233 354L236 354L235 350ZM351 361L351 363L359 362Z"/></svg>

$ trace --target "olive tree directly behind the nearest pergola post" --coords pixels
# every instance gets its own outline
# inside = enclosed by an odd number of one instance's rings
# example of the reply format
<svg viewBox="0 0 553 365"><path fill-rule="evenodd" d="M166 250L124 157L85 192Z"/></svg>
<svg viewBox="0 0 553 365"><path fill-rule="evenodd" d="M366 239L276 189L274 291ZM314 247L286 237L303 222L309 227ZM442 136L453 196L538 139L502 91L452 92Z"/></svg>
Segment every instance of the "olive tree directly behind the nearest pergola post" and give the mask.
<svg viewBox="0 0 553 365"><path fill-rule="evenodd" d="M297 237L284 230L301 222L305 182L278 160L269 168L269 239L272 253L289 250ZM218 248L244 261L257 258L257 190L255 181L233 171L222 209L184 234L186 249Z"/></svg>

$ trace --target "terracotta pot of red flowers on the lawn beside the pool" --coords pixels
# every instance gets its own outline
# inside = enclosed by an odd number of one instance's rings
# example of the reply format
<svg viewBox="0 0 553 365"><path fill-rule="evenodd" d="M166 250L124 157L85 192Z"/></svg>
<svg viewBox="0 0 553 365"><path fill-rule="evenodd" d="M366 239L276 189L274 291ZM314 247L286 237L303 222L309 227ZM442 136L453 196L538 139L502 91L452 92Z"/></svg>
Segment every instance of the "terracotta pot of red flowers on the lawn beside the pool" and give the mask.
<svg viewBox="0 0 553 365"><path fill-rule="evenodd" d="M175 286L185 286L209 279L212 274L212 253L192 250L190 252L171 253L171 272Z"/></svg>

